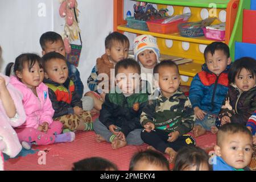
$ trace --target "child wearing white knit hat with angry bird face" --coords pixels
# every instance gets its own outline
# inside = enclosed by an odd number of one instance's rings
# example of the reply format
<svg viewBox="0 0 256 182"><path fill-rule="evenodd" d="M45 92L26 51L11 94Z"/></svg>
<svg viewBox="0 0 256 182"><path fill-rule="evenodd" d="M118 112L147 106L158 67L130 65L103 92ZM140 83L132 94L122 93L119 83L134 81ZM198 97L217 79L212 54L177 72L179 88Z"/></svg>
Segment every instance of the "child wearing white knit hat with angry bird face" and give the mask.
<svg viewBox="0 0 256 182"><path fill-rule="evenodd" d="M142 89L146 89L151 94L154 89L153 69L160 58L160 51L156 39L152 35L137 36L133 41L133 50L135 60L141 65L141 78L144 84Z"/></svg>

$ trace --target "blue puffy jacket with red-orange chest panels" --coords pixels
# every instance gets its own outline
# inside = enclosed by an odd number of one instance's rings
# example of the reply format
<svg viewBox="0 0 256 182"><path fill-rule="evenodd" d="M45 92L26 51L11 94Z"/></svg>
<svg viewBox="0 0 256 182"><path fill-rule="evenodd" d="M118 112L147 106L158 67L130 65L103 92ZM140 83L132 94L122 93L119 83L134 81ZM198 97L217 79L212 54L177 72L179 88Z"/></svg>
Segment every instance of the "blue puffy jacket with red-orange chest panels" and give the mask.
<svg viewBox="0 0 256 182"><path fill-rule="evenodd" d="M192 107L218 114L222 101L228 92L228 70L230 65L219 76L210 72L207 64L202 65L202 71L197 73L191 82L189 100Z"/></svg>

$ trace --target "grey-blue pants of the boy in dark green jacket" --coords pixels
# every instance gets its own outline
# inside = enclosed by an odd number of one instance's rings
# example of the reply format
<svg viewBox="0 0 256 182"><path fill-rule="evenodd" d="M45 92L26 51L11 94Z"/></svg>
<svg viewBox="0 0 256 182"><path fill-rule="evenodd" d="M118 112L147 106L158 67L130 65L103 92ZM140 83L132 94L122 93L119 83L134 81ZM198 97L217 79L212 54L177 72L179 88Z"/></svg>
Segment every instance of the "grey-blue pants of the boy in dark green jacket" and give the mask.
<svg viewBox="0 0 256 182"><path fill-rule="evenodd" d="M93 128L96 134L101 135L104 139L106 139L107 142L110 143L110 137L112 137L113 133L111 133L102 122L100 122L99 119L96 119L96 121L93 122ZM118 130L121 130L121 127L118 127ZM131 131L126 136L126 142L127 144L134 144L134 145L141 145L143 143L141 139L141 131L142 129L135 129Z"/></svg>

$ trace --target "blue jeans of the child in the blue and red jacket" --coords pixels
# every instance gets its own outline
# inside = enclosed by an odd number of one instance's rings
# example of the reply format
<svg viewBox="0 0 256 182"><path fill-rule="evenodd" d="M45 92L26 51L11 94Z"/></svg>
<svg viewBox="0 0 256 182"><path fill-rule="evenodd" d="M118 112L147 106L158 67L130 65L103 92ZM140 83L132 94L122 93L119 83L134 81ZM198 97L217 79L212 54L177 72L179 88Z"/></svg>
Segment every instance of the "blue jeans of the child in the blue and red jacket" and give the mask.
<svg viewBox="0 0 256 182"><path fill-rule="evenodd" d="M210 131L210 127L216 126L217 115L216 114L212 114L212 113L207 112L207 111L205 111L205 113L207 113L207 114L205 115L203 120L196 119L195 126L196 125L200 125L205 130Z"/></svg>

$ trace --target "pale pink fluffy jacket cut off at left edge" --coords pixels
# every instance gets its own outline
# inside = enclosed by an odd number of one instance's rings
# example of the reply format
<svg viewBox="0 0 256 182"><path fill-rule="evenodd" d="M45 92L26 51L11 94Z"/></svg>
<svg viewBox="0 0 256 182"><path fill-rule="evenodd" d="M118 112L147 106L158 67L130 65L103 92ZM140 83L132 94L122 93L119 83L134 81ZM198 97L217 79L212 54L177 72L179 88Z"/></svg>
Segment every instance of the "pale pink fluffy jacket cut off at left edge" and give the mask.
<svg viewBox="0 0 256 182"><path fill-rule="evenodd" d="M6 87L14 100L16 114L18 114L17 118L10 119L7 116L5 109L3 108L2 101L0 100L0 148L2 148L0 153L3 152L9 155L11 158L14 158L19 154L20 150L22 150L22 146L19 143L18 136L16 135L13 127L22 125L26 120L26 114L22 105L22 94L16 90L13 85L10 84L9 77L4 76L1 73L0 76L5 78Z"/></svg>

